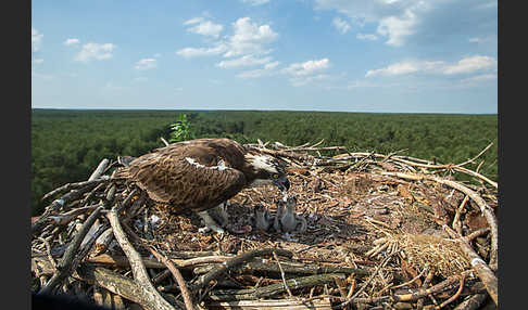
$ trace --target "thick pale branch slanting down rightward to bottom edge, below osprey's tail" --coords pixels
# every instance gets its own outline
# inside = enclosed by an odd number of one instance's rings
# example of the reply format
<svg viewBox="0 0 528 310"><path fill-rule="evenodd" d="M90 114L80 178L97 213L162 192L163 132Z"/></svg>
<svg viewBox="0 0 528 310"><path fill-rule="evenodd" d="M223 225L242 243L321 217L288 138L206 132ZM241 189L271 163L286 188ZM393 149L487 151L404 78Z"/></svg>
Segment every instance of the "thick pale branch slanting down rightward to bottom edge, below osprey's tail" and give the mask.
<svg viewBox="0 0 528 310"><path fill-rule="evenodd" d="M140 290L138 292L138 297L140 298L140 300L136 302L140 303L143 308L148 310L174 310L174 307L165 299L163 299L163 297L150 282L149 274L147 273L147 269L142 263L141 257L133 247L133 245L126 237L123 228L121 227L120 219L117 217L117 207L118 205L115 205L112 208L109 214L109 219L117 243L130 261L130 268L134 274L135 282L140 288Z"/></svg>

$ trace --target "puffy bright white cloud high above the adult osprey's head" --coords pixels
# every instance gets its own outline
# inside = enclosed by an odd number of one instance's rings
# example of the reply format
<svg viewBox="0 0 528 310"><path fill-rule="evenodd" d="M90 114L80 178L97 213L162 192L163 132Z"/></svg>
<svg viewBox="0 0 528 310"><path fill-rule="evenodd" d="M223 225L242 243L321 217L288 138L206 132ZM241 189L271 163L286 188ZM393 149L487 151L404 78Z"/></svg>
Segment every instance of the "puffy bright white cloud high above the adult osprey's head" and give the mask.
<svg viewBox="0 0 528 310"><path fill-rule="evenodd" d="M243 54L264 54L269 52L264 46L273 42L278 34L269 25L257 25L250 17L238 18L232 23L234 35L229 37L226 57Z"/></svg>

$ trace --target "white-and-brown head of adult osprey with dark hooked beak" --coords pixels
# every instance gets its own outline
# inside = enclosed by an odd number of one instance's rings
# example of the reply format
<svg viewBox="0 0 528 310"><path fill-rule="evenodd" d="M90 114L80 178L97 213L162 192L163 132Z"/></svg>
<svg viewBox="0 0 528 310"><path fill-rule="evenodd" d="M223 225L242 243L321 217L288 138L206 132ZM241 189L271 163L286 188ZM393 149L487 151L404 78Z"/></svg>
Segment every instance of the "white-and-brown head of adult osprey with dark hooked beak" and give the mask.
<svg viewBox="0 0 528 310"><path fill-rule="evenodd" d="M251 186L275 184L282 193L290 189L286 168L277 158L251 153L248 153L244 158L247 166L254 176L254 180L250 183Z"/></svg>

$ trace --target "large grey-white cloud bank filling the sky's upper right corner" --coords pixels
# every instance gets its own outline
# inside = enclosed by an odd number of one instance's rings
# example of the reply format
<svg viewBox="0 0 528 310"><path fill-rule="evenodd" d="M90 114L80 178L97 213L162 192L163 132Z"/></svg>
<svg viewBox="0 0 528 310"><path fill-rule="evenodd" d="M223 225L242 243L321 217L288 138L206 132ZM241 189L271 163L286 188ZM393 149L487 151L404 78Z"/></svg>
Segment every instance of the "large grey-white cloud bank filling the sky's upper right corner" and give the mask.
<svg viewBox="0 0 528 310"><path fill-rule="evenodd" d="M351 27L374 27L378 38L391 47L404 47L411 40L437 42L442 37L496 29L496 0L314 0L314 10L335 11L349 17ZM488 8L491 10L476 10ZM472 25L468 27L467 25Z"/></svg>

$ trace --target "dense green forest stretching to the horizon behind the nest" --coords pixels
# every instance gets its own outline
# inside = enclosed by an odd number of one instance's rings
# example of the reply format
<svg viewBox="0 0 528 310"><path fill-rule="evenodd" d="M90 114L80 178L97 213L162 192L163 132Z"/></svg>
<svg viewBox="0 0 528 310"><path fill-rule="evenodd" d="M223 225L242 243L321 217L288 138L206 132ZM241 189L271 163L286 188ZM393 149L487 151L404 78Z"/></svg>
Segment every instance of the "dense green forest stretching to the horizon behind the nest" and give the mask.
<svg viewBox="0 0 528 310"><path fill-rule="evenodd" d="M102 158L139 156L163 146L160 137L169 140L171 125L180 113L187 115L196 138L288 145L324 138L324 146L385 154L407 148L402 155L436 157L438 163L462 163L493 142L480 172L498 178L496 115L33 109L32 215L49 203L40 201L43 194L86 180Z"/></svg>

